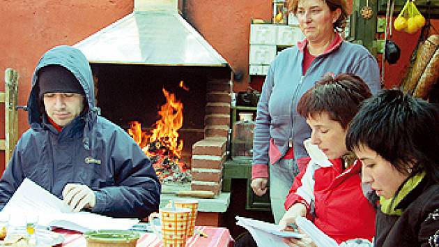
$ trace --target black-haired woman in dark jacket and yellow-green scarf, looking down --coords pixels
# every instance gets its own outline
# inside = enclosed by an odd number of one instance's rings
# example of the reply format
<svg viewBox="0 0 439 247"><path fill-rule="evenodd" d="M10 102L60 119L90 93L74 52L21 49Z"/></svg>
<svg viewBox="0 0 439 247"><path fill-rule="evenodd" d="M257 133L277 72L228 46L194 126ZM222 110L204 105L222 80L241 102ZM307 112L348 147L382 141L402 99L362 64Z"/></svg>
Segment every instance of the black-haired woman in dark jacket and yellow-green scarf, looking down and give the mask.
<svg viewBox="0 0 439 247"><path fill-rule="evenodd" d="M439 246L439 110L397 89L366 100L346 147L379 199L375 246Z"/></svg>

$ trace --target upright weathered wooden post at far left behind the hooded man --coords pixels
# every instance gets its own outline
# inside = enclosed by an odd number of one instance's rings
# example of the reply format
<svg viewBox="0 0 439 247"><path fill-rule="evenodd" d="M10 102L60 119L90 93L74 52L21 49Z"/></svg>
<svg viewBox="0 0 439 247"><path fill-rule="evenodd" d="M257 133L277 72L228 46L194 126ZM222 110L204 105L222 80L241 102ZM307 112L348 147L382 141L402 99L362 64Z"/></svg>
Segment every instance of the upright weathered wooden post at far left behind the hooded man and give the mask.
<svg viewBox="0 0 439 247"><path fill-rule="evenodd" d="M17 70L6 68L5 71L5 167L8 165L18 141L18 73Z"/></svg>

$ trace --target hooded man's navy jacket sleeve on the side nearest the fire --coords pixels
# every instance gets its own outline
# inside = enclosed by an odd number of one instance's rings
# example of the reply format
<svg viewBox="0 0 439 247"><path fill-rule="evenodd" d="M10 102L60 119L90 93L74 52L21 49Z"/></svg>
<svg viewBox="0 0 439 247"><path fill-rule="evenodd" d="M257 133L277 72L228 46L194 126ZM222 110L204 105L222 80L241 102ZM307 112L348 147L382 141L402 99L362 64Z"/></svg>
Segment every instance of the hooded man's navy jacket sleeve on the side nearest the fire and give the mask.
<svg viewBox="0 0 439 247"><path fill-rule="evenodd" d="M115 186L95 190L92 212L118 218L145 218L157 211L160 182L139 145L128 134L118 133L110 150Z"/></svg>

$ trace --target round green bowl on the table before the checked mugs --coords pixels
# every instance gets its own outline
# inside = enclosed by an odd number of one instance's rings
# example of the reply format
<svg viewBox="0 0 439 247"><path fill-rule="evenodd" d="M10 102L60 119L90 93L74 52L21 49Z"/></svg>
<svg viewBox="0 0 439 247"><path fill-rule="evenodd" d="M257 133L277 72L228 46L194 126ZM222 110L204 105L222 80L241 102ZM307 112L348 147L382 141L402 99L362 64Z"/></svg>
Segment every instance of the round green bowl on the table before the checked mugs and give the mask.
<svg viewBox="0 0 439 247"><path fill-rule="evenodd" d="M98 230L85 232L87 246L105 246L105 244L134 244L139 239L139 232L124 230Z"/></svg>

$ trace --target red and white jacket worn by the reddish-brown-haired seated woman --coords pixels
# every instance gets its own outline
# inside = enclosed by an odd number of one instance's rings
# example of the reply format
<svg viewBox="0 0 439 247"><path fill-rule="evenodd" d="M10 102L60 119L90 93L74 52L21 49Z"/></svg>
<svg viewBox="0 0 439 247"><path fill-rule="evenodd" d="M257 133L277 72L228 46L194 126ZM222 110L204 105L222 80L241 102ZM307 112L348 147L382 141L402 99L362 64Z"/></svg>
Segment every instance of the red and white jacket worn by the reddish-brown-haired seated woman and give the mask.
<svg viewBox="0 0 439 247"><path fill-rule="evenodd" d="M285 209L295 203L307 207L307 218L338 244L348 239L373 238L376 211L364 195L366 189L361 183L361 161L344 170L343 160L328 160L320 154L308 150L309 163L306 169L295 177L293 186L286 196ZM324 158L323 158L324 157Z"/></svg>

